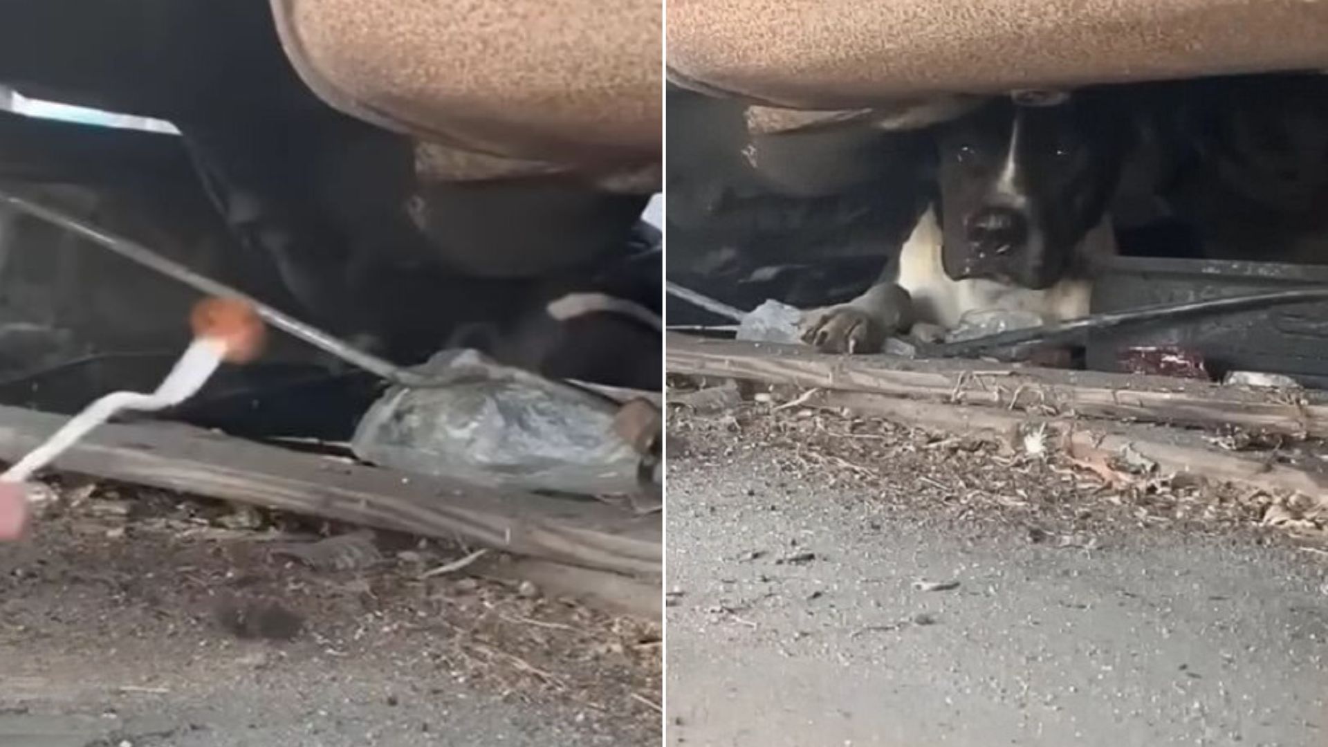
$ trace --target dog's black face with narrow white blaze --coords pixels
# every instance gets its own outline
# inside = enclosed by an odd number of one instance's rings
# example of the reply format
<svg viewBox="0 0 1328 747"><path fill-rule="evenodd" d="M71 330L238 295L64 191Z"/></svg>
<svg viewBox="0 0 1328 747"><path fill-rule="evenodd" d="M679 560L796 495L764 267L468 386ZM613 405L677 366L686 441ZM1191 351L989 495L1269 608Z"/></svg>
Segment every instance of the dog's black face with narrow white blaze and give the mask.
<svg viewBox="0 0 1328 747"><path fill-rule="evenodd" d="M1097 226L1125 156L1125 117L1089 93L1001 100L939 130L946 274L1046 288Z"/></svg>

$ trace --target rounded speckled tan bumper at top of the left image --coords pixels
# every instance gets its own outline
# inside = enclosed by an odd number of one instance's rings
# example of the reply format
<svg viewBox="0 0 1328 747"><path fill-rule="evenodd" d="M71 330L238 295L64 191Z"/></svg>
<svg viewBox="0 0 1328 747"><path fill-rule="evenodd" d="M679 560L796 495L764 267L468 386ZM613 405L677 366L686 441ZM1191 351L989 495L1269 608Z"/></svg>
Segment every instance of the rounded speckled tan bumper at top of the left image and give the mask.
<svg viewBox="0 0 1328 747"><path fill-rule="evenodd" d="M619 171L659 160L659 0L272 0L331 105L438 144L461 178ZM445 175L445 174L440 174Z"/></svg>

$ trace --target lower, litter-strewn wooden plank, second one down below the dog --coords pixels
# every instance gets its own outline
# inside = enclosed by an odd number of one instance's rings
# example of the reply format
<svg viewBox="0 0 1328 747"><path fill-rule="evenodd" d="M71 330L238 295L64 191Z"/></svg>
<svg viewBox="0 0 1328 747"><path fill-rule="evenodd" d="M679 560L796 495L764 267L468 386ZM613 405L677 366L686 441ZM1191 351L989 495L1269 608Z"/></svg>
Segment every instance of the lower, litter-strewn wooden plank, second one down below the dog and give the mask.
<svg viewBox="0 0 1328 747"><path fill-rule="evenodd" d="M859 392L818 392L807 399L806 405L849 409L906 425L984 439L1007 448L1015 447L1021 429L1045 425L1049 443L1058 443L1078 459L1116 456L1129 447L1158 463L1163 473L1190 473L1202 480L1255 490L1293 492L1328 500L1328 468L1324 465L1276 464L1268 460L1267 452L1220 449L1193 431L1069 417L1038 419L993 408L923 403Z"/></svg>

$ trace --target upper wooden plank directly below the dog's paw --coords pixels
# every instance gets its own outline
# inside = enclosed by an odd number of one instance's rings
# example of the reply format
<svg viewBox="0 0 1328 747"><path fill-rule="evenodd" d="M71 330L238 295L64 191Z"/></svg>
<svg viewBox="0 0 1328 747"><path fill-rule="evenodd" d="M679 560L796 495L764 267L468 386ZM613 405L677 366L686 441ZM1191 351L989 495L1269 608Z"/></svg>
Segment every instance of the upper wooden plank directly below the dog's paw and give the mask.
<svg viewBox="0 0 1328 747"><path fill-rule="evenodd" d="M671 374L857 391L1037 413L1328 437L1328 396L1163 376L1060 371L975 360L823 355L809 348L669 335Z"/></svg>

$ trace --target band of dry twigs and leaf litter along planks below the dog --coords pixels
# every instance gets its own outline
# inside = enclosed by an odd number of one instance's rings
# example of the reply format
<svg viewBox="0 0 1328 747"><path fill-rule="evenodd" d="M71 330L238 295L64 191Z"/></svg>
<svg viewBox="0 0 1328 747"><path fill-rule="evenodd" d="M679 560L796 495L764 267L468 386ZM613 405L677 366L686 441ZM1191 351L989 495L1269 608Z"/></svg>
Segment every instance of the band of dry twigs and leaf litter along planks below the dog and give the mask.
<svg viewBox="0 0 1328 747"><path fill-rule="evenodd" d="M1025 448L1011 453L989 437L829 409L744 403L716 413L677 408L669 415L669 436L687 443L680 457L712 461L729 459L733 449L773 451L789 480L853 485L879 493L891 510L908 510L916 501L955 513L999 508L1028 526L1031 541L1057 548L1096 549L1121 521L1199 530L1278 526L1328 541L1328 513L1320 517L1309 498L1163 473L1133 448L1053 448L1052 431L1029 435L1037 432L1027 431ZM733 433L752 445L736 445ZM1271 506L1280 508L1270 514Z"/></svg>

